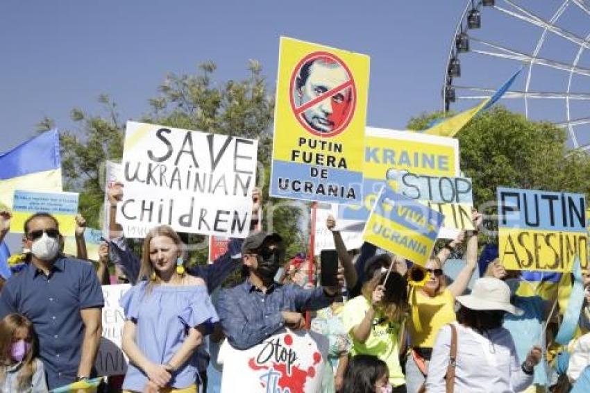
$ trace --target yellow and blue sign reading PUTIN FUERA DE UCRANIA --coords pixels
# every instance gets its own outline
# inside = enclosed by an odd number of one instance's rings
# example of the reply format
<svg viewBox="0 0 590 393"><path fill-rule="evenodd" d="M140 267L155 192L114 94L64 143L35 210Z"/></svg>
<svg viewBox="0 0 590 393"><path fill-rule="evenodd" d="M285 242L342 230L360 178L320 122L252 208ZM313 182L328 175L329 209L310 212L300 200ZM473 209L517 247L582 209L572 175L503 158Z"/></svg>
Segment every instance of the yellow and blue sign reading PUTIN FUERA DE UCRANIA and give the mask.
<svg viewBox="0 0 590 393"><path fill-rule="evenodd" d="M369 57L280 39L271 196L362 201Z"/></svg>

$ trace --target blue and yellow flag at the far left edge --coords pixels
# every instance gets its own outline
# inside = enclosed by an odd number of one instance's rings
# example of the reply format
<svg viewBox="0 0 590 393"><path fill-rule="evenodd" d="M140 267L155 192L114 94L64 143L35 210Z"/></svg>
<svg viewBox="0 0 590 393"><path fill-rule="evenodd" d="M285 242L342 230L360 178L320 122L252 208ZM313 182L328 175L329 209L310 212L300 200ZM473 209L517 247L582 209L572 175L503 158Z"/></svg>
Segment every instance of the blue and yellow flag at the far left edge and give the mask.
<svg viewBox="0 0 590 393"><path fill-rule="evenodd" d="M0 153L0 210L12 208L15 190L62 191L57 130L44 132Z"/></svg>

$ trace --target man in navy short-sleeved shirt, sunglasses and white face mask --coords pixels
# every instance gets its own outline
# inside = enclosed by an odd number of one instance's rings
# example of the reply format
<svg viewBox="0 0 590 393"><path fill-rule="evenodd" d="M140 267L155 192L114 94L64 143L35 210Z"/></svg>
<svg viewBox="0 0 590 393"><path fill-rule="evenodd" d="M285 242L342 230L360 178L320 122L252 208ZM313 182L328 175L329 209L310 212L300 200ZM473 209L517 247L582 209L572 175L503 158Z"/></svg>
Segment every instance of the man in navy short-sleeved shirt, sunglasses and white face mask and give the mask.
<svg viewBox="0 0 590 393"><path fill-rule="evenodd" d="M19 312L33 322L50 390L90 378L104 304L94 267L59 253L58 221L47 213L29 217L24 233L31 262L4 285L0 318Z"/></svg>

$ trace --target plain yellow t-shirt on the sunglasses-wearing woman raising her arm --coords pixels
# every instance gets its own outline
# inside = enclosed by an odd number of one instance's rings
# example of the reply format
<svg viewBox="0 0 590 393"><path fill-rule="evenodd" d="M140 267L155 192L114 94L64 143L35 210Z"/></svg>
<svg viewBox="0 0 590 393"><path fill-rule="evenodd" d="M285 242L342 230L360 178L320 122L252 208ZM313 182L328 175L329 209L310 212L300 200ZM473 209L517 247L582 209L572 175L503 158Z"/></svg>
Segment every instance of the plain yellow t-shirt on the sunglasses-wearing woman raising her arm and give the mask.
<svg viewBox="0 0 590 393"><path fill-rule="evenodd" d="M455 316L455 297L445 289L435 297L426 296L420 290L416 290L416 296L410 296L412 312L418 311L421 331L416 331L414 322L408 318L408 332L410 333L410 345L432 348L439 329L457 319Z"/></svg>

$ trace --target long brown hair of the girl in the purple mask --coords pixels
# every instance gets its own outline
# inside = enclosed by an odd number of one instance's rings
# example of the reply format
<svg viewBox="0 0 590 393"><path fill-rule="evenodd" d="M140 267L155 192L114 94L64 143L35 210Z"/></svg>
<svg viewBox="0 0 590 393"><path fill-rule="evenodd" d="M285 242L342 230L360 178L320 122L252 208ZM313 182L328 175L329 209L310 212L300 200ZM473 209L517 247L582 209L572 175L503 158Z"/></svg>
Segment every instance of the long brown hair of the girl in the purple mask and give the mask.
<svg viewBox="0 0 590 393"><path fill-rule="evenodd" d="M22 328L25 328L28 332L28 340L26 341L30 342L31 348L28 349L28 352L22 360L22 369L19 371L17 385L19 390L26 390L28 386L31 386L33 374L35 374L37 369L35 366L37 344L35 342L33 324L21 314L8 314L2 319L2 321L0 321L0 382L3 383L6 379L6 371L8 366L12 363L12 338L15 336L16 331Z"/></svg>

